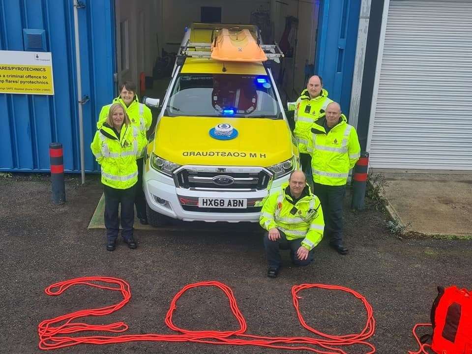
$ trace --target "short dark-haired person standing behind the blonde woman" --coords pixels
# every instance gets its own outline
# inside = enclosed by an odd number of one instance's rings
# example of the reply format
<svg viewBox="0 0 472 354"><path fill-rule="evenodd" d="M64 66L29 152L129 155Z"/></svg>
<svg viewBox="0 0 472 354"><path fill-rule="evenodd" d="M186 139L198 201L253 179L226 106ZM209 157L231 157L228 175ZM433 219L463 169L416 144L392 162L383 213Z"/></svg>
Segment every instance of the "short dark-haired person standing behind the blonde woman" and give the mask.
<svg viewBox="0 0 472 354"><path fill-rule="evenodd" d="M132 126L135 126L141 132L141 135L146 139L147 142L147 132L152 124L152 113L151 110L143 103L140 103L138 100L138 95L136 94L136 84L131 81L125 81L120 85L119 96L115 98L112 102L119 103L123 109L126 111L126 114L130 118L130 123ZM97 122L97 129L100 129L103 123L108 117L108 111L112 104L102 107L100 115ZM138 184L136 186L136 213L141 224L148 224L148 217L146 215L146 197L144 196L143 191L143 155L137 160L138 164Z"/></svg>

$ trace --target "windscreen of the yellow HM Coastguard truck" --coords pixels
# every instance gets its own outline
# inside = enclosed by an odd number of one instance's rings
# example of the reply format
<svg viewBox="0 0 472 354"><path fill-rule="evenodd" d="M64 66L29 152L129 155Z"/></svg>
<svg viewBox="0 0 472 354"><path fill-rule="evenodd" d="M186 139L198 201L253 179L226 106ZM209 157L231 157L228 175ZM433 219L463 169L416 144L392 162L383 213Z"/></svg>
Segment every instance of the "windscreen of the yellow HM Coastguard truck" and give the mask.
<svg viewBox="0 0 472 354"><path fill-rule="evenodd" d="M166 115L282 119L265 75L181 74Z"/></svg>

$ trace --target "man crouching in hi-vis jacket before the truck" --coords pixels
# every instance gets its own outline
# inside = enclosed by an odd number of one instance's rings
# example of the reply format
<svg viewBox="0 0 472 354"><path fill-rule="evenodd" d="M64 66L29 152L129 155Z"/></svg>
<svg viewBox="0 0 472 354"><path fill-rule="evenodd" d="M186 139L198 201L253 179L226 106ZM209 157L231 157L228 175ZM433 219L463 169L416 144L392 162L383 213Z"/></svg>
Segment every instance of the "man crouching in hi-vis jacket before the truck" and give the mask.
<svg viewBox="0 0 472 354"><path fill-rule="evenodd" d="M280 248L290 249L295 266L307 266L313 261L313 249L323 238L323 211L302 171L292 172L282 190L267 197L259 223L267 230L267 276L275 278L279 273Z"/></svg>

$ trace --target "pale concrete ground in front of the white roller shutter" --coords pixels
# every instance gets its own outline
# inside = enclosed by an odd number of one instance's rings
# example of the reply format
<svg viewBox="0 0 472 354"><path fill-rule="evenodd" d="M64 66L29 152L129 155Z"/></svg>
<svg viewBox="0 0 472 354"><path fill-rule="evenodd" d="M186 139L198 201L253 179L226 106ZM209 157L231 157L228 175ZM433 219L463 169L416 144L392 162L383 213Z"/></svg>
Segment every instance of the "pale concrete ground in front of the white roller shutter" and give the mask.
<svg viewBox="0 0 472 354"><path fill-rule="evenodd" d="M407 231L428 236L472 236L472 172L399 171L382 174L384 195Z"/></svg>

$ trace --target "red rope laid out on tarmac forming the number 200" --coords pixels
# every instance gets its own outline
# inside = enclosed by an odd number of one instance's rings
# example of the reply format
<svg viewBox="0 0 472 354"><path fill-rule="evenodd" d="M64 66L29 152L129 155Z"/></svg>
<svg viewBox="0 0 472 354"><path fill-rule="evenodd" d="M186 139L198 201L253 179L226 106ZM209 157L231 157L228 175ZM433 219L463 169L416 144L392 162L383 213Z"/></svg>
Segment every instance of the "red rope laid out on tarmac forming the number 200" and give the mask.
<svg viewBox="0 0 472 354"><path fill-rule="evenodd" d="M97 282L106 283L108 285L99 285ZM76 323L73 320L79 317L86 316L105 316L109 315L121 307L123 307L131 298L131 290L128 283L124 280L112 277L83 277L66 280L56 284L52 284L45 289L48 295L60 295L65 290L73 285L88 285L91 287L118 291L121 292L123 299L115 305L105 306L101 308L80 310L66 315L62 315L53 319L44 320L38 325L39 334L39 348L42 350L52 350L58 348L70 347L77 344L88 343L88 344L111 344L111 343L125 343L125 342L136 342L136 341L155 341L155 342L194 342L194 343L206 343L206 344L218 344L218 345L252 345L258 347L285 349L285 350L306 350L313 353L319 354L347 354L344 350L339 347L350 346L354 344L364 345L370 348L367 354L375 353L375 347L366 342L374 334L375 320L373 317L372 306L367 302L364 296L356 293L354 290L349 288L335 286L335 285L324 285L324 284L301 284L292 287L293 304L297 313L300 324L308 329L310 332L317 334L321 338L311 337L264 337L258 335L244 334L247 329L246 320L244 319L241 311L239 310L236 298L233 291L220 282L207 281L189 284L184 286L172 299L169 310L167 311L165 323L169 328L180 332L181 334L132 334L132 335L119 335L119 336L84 336L84 337L71 337L68 336L72 333L83 332L83 331L104 331L120 333L128 329L128 325L123 322L117 322L113 324L102 324L92 325L85 323ZM173 321L172 316L174 311L177 309L177 300L187 290L197 288L201 286L214 286L221 289L230 302L230 307L236 320L239 324L239 328L236 330L229 331L216 331L216 330L203 330L193 331L184 328L177 327ZM346 334L341 336L329 335L310 327L304 321L298 308L298 299L300 296L298 293L305 289L310 288L321 288L329 290L341 290L349 294L354 295L362 301L367 311L367 323L364 329L358 334ZM59 336L59 334L61 334ZM66 334L64 336L64 334ZM285 345L283 345L285 344ZM313 346L321 347L322 349L316 349Z"/></svg>

